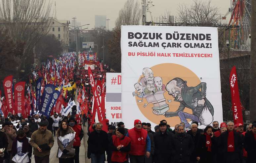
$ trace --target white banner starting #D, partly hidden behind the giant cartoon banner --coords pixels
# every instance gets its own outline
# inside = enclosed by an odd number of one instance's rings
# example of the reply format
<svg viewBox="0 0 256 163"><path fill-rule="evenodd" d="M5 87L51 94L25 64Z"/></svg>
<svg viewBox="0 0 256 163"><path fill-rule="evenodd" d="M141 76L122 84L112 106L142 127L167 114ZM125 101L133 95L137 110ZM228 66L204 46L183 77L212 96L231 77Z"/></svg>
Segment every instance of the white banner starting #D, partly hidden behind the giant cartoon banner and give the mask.
<svg viewBox="0 0 256 163"><path fill-rule="evenodd" d="M121 73L106 74L106 118L117 126L122 121Z"/></svg>

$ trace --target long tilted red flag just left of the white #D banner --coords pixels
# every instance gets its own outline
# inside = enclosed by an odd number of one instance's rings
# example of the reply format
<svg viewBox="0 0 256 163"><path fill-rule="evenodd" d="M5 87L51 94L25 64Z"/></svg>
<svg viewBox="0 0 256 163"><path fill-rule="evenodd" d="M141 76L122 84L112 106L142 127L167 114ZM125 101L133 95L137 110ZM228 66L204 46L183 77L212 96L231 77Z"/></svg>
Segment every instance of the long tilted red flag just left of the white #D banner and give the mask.
<svg viewBox="0 0 256 163"><path fill-rule="evenodd" d="M105 115L103 115L104 112L101 108L100 96L96 89L96 85L94 82L94 76L93 76L93 73L92 73L92 70L90 67L88 68L88 75L90 77L90 83L91 83L91 87L93 89L93 96L94 96L94 101L95 101L95 105L94 105L95 109L94 110L97 110L98 119L103 125L102 129L107 132L107 123L106 123Z"/></svg>

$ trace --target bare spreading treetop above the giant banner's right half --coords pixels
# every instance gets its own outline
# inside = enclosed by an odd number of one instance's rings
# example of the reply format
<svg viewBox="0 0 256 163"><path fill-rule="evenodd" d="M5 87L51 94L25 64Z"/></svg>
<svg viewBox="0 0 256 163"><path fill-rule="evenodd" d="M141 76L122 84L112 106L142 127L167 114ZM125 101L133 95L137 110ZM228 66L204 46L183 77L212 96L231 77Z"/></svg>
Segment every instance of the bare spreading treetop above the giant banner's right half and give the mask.
<svg viewBox="0 0 256 163"><path fill-rule="evenodd" d="M220 19L219 9L211 1L194 0L192 5L179 4L176 21L185 25L212 26Z"/></svg>

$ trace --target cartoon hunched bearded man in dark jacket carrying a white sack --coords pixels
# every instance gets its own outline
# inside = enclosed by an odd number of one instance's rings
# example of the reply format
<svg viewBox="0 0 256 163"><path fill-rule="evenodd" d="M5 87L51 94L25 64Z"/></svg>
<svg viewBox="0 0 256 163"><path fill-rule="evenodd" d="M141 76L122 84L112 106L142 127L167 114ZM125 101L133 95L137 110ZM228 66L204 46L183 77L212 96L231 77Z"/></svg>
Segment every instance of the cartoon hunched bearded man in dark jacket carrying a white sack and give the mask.
<svg viewBox="0 0 256 163"><path fill-rule="evenodd" d="M200 83L195 87L188 87L187 81L176 77L167 83L165 89L168 91L169 95L175 97L174 101L180 102L179 108L175 112L165 112L165 117L179 116L181 122L185 123L186 128L190 127L187 119L191 119L192 122L201 122L202 124L212 122L214 110L212 104L205 97L206 83ZM184 112L185 108L191 109L192 114ZM200 117L200 114L203 110L205 111L206 108L208 108L209 112L205 113L209 114L201 115ZM153 113L155 115L160 115L157 110L153 110Z"/></svg>

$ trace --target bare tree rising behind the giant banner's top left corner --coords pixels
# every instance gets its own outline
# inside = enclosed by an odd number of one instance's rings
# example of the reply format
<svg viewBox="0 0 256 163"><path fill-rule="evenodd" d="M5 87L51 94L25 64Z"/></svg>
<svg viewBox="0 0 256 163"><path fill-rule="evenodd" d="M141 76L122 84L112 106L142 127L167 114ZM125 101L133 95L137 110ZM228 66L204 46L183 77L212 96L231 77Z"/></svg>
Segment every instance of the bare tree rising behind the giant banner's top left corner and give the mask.
<svg viewBox="0 0 256 163"><path fill-rule="evenodd" d="M124 7L119 11L115 21L115 27L121 28L121 25L139 25L141 20L141 5L138 1L127 0Z"/></svg>

